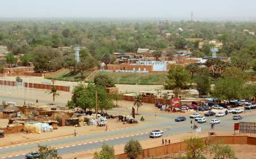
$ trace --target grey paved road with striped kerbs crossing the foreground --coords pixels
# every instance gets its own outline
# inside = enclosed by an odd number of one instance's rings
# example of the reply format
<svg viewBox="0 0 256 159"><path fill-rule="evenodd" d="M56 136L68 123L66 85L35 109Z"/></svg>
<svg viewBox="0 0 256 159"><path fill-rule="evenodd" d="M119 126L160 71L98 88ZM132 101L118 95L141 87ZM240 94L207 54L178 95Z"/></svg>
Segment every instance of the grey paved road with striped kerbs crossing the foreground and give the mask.
<svg viewBox="0 0 256 159"><path fill-rule="evenodd" d="M251 112L255 112L256 110L253 110ZM142 113L143 115L152 115L150 113ZM166 115L168 115L166 117ZM227 116L219 118L221 120L220 124L217 124L214 129L218 130L223 130L223 131L232 131L233 130L233 123L237 123L238 121L232 120L232 114L229 114ZM256 115L247 115L245 116L242 120L240 121L246 121L246 122L253 122L255 119ZM85 150L92 150L96 148L100 148L102 143L107 143L109 145L118 145L118 144L125 144L128 140L131 138L137 139L137 140L146 140L148 139L148 134L141 134L141 135L135 135L135 136L126 136L126 133L134 132L134 133L139 133L145 129L154 129L155 127L165 127L163 129L164 131L164 136L167 135L174 135L177 133L184 133L184 132L190 132L192 131L191 129L191 123L190 120L187 116L187 120L185 122L174 122L174 115L171 114L159 114L159 117L153 120L157 120L158 124L156 125L142 125L140 127L135 127L135 128L129 128L129 129L121 129L119 131L111 131L111 132L105 132L105 133L100 133L100 134L93 134L89 136L77 136L77 137L71 137L67 139L60 139L60 140L53 140L53 141L46 141L41 144L43 145L57 145L57 144L64 144L64 143L73 143L75 141L83 141L83 140L89 140L89 139L96 139L97 137L102 137L102 136L113 136L117 134L123 134L123 137L119 137L118 139L112 139L112 140L107 140L107 141L96 141L93 143L86 143L86 144L81 144L81 145L73 145L71 147L64 147L61 149L58 149L58 153L60 155L63 154L69 154L69 153L76 153L76 152L81 152ZM203 123L203 124L197 124L199 127L201 127L202 131L204 130L209 130L210 125L209 125L209 120L216 118L214 116L207 117L208 122ZM193 123L194 120L192 119ZM28 144L28 145L22 145L19 147L14 147L14 148L3 148L0 149L0 154L1 153L11 153L16 150L26 150L26 149L31 149L35 148L37 145L36 144ZM24 156L16 156L16 157L10 157L10 158L24 158Z"/></svg>

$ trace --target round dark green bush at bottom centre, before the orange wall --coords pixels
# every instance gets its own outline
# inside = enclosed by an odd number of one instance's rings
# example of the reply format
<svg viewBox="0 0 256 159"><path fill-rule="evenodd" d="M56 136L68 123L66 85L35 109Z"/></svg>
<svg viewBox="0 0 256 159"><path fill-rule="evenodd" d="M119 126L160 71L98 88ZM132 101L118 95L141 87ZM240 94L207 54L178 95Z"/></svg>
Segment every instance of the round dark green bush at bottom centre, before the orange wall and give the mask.
<svg viewBox="0 0 256 159"><path fill-rule="evenodd" d="M125 153L130 159L136 159L143 153L143 149L138 140L131 139L125 145Z"/></svg>

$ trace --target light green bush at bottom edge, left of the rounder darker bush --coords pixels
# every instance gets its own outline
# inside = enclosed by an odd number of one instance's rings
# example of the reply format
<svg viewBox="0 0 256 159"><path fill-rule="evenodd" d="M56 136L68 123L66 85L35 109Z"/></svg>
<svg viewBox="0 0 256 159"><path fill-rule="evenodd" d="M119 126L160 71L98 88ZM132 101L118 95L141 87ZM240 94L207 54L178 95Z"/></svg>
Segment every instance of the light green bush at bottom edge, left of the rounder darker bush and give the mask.
<svg viewBox="0 0 256 159"><path fill-rule="evenodd" d="M114 159L115 152L113 146L102 144L100 153L94 153L93 159Z"/></svg>

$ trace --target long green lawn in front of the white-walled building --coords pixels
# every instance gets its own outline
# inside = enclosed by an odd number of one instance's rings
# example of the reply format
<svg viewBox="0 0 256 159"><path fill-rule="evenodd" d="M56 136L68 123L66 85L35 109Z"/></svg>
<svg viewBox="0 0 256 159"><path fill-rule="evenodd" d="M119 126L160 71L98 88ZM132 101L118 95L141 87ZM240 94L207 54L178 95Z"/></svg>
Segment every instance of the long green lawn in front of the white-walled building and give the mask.
<svg viewBox="0 0 256 159"><path fill-rule="evenodd" d="M117 84L139 84L139 85L163 85L167 80L167 73L117 73L99 72L96 74L106 74ZM89 81L93 83L94 78Z"/></svg>

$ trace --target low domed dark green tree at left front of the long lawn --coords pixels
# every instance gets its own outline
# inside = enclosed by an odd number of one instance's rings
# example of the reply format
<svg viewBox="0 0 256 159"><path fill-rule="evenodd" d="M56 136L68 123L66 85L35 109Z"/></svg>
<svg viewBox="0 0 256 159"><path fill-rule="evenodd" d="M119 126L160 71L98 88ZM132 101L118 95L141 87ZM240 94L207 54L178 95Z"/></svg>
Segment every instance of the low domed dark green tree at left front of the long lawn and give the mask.
<svg viewBox="0 0 256 159"><path fill-rule="evenodd" d="M94 84L103 87L115 87L113 79L105 74L99 74L94 77Z"/></svg>

